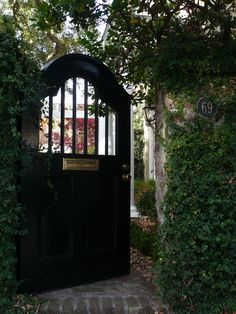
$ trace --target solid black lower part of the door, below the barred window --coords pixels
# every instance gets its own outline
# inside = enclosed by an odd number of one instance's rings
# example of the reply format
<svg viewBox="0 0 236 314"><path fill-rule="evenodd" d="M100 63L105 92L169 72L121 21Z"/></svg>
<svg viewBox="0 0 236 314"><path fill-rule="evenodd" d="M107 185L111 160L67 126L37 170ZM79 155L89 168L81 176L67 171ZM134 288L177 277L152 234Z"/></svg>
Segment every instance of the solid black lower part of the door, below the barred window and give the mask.
<svg viewBox="0 0 236 314"><path fill-rule="evenodd" d="M119 206L123 197L119 196L118 158L97 158L99 172L63 172L57 168L62 165L58 154L51 161L51 176L37 178L34 172L34 184L31 181L22 195L29 230L21 238L22 291L63 287L128 271L128 223ZM38 172L44 169L41 163L46 164L47 156L42 159ZM29 195L34 195L33 203Z"/></svg>

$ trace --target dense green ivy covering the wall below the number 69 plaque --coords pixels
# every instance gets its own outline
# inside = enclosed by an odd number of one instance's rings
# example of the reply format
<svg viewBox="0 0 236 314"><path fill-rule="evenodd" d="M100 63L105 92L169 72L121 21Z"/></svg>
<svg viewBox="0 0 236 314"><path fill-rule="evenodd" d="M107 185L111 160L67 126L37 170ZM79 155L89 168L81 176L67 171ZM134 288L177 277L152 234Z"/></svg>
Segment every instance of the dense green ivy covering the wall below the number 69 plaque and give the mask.
<svg viewBox="0 0 236 314"><path fill-rule="evenodd" d="M208 88L219 107L214 118L187 116L181 99L167 113L168 190L156 271L159 294L175 313L236 310L235 83Z"/></svg>

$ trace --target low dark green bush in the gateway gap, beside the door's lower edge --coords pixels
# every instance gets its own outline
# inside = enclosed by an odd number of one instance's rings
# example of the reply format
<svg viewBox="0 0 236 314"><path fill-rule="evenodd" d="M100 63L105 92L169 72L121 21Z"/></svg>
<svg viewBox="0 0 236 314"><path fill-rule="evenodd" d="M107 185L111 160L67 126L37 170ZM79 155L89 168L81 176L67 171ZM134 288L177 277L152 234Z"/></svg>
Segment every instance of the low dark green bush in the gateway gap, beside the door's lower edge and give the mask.
<svg viewBox="0 0 236 314"><path fill-rule="evenodd" d="M130 224L130 244L144 255L157 259L157 228L142 228L135 220Z"/></svg>

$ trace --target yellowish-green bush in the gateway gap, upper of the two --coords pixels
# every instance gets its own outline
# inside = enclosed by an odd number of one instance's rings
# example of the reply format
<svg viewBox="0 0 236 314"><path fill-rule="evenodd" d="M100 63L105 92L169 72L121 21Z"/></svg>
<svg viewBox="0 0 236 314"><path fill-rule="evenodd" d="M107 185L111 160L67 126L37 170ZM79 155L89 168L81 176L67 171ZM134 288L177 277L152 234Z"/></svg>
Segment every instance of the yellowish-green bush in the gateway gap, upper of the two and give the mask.
<svg viewBox="0 0 236 314"><path fill-rule="evenodd" d="M155 207L155 181L137 180L134 183L135 202L141 216L148 216L153 221L157 219Z"/></svg>

